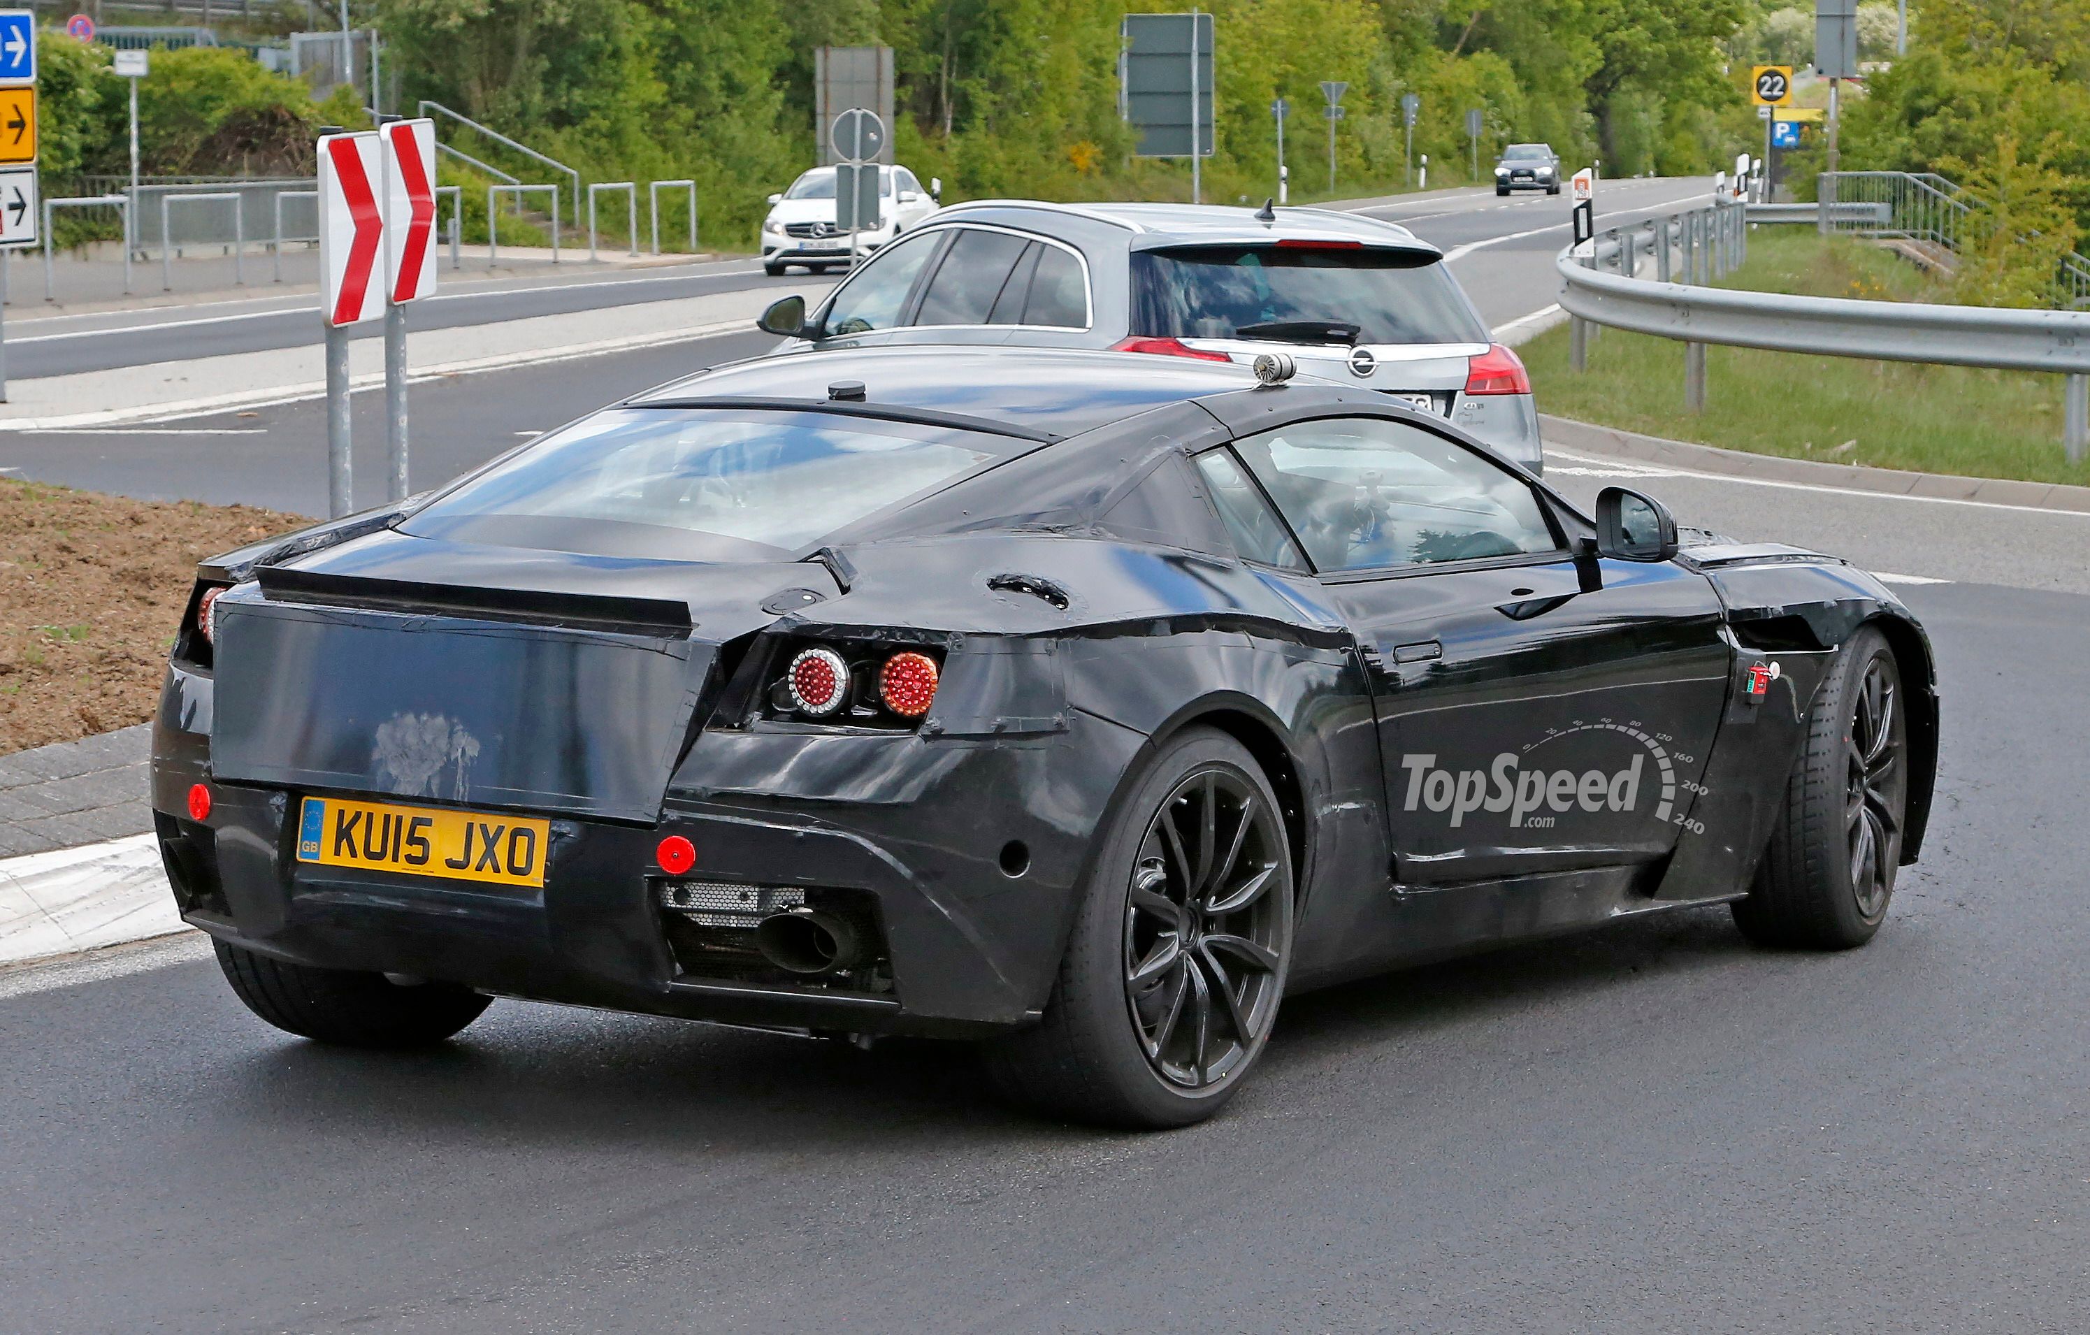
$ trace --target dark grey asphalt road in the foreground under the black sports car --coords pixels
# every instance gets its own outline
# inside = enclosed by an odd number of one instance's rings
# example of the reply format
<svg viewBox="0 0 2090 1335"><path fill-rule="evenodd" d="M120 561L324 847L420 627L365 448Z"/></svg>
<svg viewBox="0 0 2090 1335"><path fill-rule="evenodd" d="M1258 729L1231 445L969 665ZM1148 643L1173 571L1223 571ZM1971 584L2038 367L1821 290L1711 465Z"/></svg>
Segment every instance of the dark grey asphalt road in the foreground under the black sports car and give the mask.
<svg viewBox="0 0 2090 1335"><path fill-rule="evenodd" d="M1910 602L1944 775L1871 946L1699 911L1296 997L1185 1132L936 1045L497 1003L387 1057L186 948L0 980L0 1329L2080 1329L2090 600Z"/></svg>

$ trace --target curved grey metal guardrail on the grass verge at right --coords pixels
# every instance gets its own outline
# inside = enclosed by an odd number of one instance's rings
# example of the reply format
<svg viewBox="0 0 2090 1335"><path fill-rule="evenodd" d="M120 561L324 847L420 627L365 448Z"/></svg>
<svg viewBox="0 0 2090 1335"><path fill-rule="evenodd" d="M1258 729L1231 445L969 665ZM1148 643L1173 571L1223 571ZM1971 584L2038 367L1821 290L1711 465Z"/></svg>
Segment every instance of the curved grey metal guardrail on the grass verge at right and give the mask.
<svg viewBox="0 0 2090 1335"><path fill-rule="evenodd" d="M1720 228L1747 242L1743 209L1716 209ZM1705 407L1705 347L1756 347L1818 357L1925 361L2067 376L2063 449L2071 464L2090 447L2090 311L2025 311L1845 297L1787 297L1689 282L1636 278L1634 236L1668 238L1678 219L1613 230L1584 253L1570 247L1555 259L1561 309L1574 318L1570 357L1586 368L1595 326L1674 338L1685 345L1685 407ZM1657 253L1668 247L1657 242ZM1611 267L1613 272L1605 272Z"/></svg>

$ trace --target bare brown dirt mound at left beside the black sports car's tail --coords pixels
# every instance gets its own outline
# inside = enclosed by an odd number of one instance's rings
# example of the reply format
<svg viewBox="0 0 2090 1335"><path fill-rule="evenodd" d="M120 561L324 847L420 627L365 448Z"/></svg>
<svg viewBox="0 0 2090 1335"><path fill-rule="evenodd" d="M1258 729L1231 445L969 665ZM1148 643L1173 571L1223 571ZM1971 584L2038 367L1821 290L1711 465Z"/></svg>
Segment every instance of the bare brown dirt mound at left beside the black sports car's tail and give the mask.
<svg viewBox="0 0 2090 1335"><path fill-rule="evenodd" d="M196 562L307 522L0 478L0 754L150 719Z"/></svg>

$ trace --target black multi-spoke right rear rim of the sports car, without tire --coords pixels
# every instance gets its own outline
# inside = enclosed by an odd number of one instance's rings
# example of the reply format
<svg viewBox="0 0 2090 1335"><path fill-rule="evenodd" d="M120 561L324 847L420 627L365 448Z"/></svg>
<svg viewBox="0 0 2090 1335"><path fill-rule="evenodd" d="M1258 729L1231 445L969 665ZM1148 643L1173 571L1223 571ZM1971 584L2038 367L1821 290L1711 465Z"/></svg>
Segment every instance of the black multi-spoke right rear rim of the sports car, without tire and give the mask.
<svg viewBox="0 0 2090 1335"><path fill-rule="evenodd" d="M1124 903L1124 1001L1162 1080L1216 1084L1269 1034L1285 857L1277 813L1229 767L1183 777L1147 823Z"/></svg>

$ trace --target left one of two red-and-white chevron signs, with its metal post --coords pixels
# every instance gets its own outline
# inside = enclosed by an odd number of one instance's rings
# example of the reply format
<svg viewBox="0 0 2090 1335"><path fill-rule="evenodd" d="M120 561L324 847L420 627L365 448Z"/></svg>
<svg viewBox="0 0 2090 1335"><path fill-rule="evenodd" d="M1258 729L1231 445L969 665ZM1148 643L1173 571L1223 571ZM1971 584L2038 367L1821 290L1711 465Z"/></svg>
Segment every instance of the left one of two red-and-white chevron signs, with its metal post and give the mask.
<svg viewBox="0 0 2090 1335"><path fill-rule="evenodd" d="M320 136L320 320L326 326L326 508L332 518L355 510L349 326L385 313L382 184L374 130Z"/></svg>

